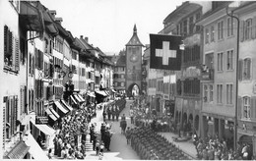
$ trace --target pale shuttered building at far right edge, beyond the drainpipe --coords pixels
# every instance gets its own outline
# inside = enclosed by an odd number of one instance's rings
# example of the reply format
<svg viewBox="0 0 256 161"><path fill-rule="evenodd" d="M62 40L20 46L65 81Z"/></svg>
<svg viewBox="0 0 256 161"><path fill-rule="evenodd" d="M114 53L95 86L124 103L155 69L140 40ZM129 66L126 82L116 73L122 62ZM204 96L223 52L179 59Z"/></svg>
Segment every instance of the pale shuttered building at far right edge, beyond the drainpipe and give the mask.
<svg viewBox="0 0 256 161"><path fill-rule="evenodd" d="M233 29L234 34L239 31L237 141L252 145L254 154L256 153L255 8L255 2L241 2L234 10L235 16L240 21L239 30L235 27Z"/></svg>

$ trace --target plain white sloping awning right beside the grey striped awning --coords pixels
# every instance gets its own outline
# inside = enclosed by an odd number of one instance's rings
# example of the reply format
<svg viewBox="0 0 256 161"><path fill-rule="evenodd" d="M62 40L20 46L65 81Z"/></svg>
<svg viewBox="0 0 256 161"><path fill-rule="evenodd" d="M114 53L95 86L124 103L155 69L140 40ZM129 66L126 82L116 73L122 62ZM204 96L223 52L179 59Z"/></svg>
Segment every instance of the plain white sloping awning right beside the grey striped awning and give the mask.
<svg viewBox="0 0 256 161"><path fill-rule="evenodd" d="M32 134L28 131L24 136L25 143L30 146L30 154L32 154L33 159L35 160L48 160L46 153L41 149L36 140L33 138Z"/></svg>

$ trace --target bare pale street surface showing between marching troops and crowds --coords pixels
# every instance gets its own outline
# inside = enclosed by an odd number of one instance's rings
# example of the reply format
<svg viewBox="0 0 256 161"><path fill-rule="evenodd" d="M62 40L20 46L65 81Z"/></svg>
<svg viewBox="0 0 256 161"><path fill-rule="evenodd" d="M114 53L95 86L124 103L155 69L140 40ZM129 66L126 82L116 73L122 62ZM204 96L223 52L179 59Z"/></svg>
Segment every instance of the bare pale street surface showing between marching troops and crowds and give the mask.
<svg viewBox="0 0 256 161"><path fill-rule="evenodd" d="M127 127L131 126L129 117L129 105L132 100L127 100L126 107L121 112L120 116L123 114L126 115L127 119ZM96 131L100 132L100 125L103 122L102 118L103 109L97 109L96 118L92 119L91 123L96 123ZM108 122L111 124L111 122ZM126 144L126 138L123 134L121 134L121 129L119 127L119 122L112 122L112 131L114 134L111 137L110 150L104 151L103 159L106 160L138 160L140 159L136 152L132 149L130 145ZM87 139L87 156L85 159L98 159L96 156L96 151L93 151L93 143L89 141L89 135Z"/></svg>

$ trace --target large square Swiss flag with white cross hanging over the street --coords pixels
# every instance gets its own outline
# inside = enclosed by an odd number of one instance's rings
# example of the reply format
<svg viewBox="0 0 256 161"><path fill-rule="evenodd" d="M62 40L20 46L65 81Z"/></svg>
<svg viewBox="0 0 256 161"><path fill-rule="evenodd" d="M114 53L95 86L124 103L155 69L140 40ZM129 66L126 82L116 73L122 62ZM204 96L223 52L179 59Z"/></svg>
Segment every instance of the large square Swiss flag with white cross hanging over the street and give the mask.
<svg viewBox="0 0 256 161"><path fill-rule="evenodd" d="M180 71L181 68L181 36L150 34L151 69Z"/></svg>

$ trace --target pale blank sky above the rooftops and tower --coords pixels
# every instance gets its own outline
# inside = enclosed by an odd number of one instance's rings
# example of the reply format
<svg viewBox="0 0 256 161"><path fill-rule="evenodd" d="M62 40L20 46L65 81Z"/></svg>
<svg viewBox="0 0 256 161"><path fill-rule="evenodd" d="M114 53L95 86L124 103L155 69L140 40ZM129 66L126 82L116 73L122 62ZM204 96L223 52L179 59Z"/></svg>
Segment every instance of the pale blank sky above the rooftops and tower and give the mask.
<svg viewBox="0 0 256 161"><path fill-rule="evenodd" d="M163 28L163 20L181 5L181 0L39 0L56 10L62 27L74 37L89 38L89 43L105 54L118 54L133 35L136 24L141 42L150 43L150 33Z"/></svg>

